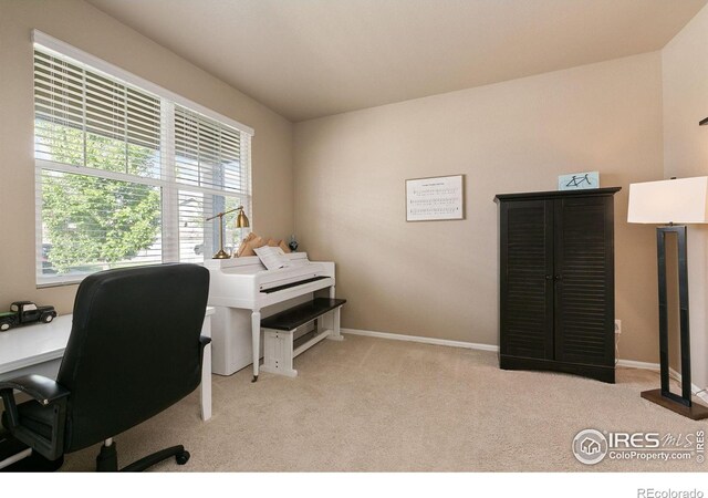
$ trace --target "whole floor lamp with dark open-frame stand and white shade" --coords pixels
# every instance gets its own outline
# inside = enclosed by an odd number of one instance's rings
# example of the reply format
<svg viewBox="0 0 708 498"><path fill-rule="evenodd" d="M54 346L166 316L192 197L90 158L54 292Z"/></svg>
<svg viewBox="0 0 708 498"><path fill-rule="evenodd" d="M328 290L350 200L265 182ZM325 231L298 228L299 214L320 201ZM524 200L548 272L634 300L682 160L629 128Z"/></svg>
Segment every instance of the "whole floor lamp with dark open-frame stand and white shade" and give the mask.
<svg viewBox="0 0 708 498"><path fill-rule="evenodd" d="M662 388L644 391L642 397L694 421L708 418L708 407L691 402L688 255L686 248L686 225L708 222L708 177L701 176L629 185L627 221L631 224L663 225L656 228ZM668 297L666 281L666 236L668 234L676 234L678 243L680 395L669 391Z"/></svg>

